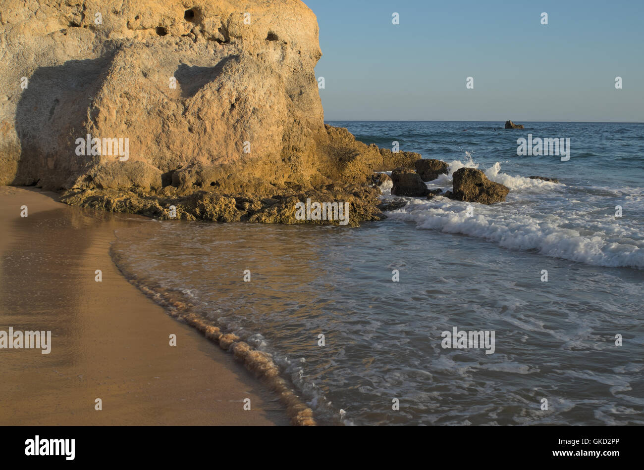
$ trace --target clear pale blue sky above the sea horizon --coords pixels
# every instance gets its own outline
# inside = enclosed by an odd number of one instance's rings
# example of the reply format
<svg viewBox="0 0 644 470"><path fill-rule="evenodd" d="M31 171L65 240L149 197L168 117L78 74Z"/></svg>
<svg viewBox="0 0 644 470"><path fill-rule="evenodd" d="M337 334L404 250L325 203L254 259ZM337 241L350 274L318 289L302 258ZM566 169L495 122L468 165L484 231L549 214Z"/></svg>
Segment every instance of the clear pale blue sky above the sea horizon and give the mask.
<svg viewBox="0 0 644 470"><path fill-rule="evenodd" d="M326 120L644 122L644 0L304 2Z"/></svg>

